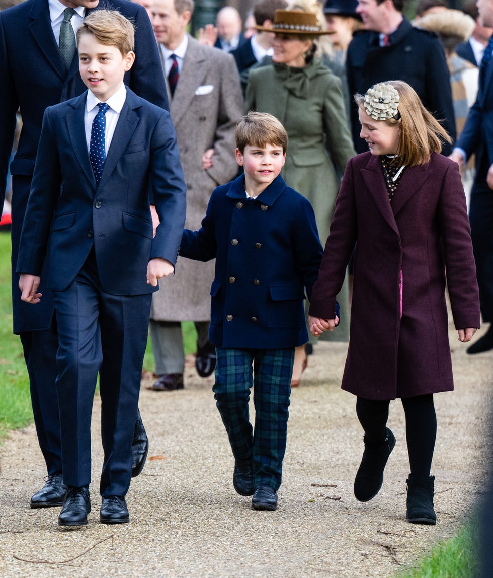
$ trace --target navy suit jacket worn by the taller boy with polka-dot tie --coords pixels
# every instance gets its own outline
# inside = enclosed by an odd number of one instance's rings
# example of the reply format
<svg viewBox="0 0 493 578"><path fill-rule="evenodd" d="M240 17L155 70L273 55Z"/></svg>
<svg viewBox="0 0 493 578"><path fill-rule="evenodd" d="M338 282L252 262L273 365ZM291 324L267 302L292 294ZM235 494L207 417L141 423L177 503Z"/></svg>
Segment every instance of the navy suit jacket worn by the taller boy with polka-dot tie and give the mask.
<svg viewBox="0 0 493 578"><path fill-rule="evenodd" d="M154 257L175 262L185 224L186 188L170 114L127 88L96 186L85 139L86 97L44 113L17 272L40 275L48 254L48 287L63 291L94 244L103 291L155 291L146 283L147 263ZM160 218L154 238L150 181Z"/></svg>

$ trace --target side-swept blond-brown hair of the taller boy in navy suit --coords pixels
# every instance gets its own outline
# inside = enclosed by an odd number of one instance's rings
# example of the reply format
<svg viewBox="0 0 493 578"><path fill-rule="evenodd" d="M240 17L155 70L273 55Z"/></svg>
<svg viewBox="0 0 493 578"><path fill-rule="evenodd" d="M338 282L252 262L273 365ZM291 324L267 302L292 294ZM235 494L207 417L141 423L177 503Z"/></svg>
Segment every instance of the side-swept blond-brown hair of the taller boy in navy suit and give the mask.
<svg viewBox="0 0 493 578"><path fill-rule="evenodd" d="M88 14L77 30L77 45L83 34L92 34L103 46L115 46L123 56L135 46L133 24L118 10L94 10Z"/></svg>

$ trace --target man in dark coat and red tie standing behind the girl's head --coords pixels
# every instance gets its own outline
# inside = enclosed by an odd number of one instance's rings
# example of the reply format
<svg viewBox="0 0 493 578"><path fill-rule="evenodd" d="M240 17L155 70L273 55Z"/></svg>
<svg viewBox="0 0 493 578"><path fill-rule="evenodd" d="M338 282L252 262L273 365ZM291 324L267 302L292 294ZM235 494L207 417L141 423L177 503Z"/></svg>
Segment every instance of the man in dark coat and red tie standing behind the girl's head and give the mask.
<svg viewBox="0 0 493 578"><path fill-rule="evenodd" d="M438 37L414 28L402 14L403 0L359 0L364 31L356 32L348 48L346 68L349 95L364 94L375 83L404 80L423 105L455 139L450 73ZM357 153L368 150L360 138L358 107L351 105L351 125ZM442 152L449 154L449 145Z"/></svg>

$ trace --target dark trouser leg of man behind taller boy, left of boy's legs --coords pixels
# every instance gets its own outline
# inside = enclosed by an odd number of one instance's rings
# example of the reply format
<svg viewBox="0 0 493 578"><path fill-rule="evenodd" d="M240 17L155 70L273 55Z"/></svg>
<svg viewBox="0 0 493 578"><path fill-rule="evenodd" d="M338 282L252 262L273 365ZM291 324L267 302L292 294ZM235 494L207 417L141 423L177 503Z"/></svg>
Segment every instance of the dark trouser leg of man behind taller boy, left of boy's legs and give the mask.
<svg viewBox="0 0 493 578"><path fill-rule="evenodd" d="M32 413L39 447L48 474L61 472L60 416L55 388L58 373L57 333L55 328L46 331L26 331L20 334L20 338L29 374Z"/></svg>

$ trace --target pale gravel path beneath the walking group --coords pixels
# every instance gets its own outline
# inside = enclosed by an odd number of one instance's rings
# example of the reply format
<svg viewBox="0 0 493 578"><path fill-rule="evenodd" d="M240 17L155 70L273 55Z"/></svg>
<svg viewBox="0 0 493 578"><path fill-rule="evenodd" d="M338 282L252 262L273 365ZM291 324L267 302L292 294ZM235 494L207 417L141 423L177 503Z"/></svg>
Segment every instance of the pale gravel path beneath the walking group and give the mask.
<svg viewBox="0 0 493 578"><path fill-rule="evenodd" d="M63 529L58 508L29 509L45 472L35 430L0 448L0 576L390 577L450 538L473 512L488 469L493 353L470 357L451 331L456 390L435 397L432 473L438 524L406 523L409 473L400 402L390 406L397 444L380 494L353 497L363 451L354 398L339 388L346 345L320 343L293 390L277 512L256 512L233 490L233 458L215 408L213 378L188 360L185 390L153 392L140 409L150 438L144 472L127 497L130 524L99 524L99 399L93 418L93 510L87 526Z"/></svg>

